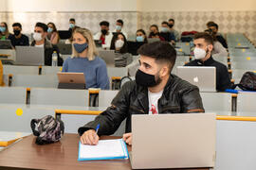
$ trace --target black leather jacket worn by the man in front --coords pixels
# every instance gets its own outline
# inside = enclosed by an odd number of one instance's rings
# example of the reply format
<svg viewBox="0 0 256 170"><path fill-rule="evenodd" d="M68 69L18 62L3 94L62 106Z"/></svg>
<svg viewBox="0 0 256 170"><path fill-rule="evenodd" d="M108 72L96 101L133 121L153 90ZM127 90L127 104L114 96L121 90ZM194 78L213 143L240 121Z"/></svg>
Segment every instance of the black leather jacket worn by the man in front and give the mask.
<svg viewBox="0 0 256 170"><path fill-rule="evenodd" d="M111 107L103 111L94 121L79 128L79 134L101 125L99 135L111 135L126 118L125 132L131 132L131 115L148 114L148 89L137 85L135 81L125 83ZM171 75L162 96L158 100L159 113L204 112L199 90L189 82Z"/></svg>

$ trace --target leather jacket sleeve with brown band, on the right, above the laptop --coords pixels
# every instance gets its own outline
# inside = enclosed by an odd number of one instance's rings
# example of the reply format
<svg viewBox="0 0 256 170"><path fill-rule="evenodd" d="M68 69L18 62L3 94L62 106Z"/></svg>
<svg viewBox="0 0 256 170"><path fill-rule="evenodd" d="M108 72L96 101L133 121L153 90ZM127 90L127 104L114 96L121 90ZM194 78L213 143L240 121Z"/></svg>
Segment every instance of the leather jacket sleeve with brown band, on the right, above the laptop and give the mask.
<svg viewBox="0 0 256 170"><path fill-rule="evenodd" d="M199 89L191 86L181 92L183 112L205 112Z"/></svg>

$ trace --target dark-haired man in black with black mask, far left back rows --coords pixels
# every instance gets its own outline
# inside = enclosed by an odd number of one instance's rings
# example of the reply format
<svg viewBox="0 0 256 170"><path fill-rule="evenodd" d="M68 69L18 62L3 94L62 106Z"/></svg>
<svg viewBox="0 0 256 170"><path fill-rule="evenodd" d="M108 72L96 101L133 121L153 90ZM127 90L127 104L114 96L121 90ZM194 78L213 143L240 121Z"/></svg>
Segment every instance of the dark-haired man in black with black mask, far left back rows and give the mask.
<svg viewBox="0 0 256 170"><path fill-rule="evenodd" d="M12 46L28 46L29 40L28 37L21 33L22 26L20 23L13 23L13 35L9 35L9 40L12 44Z"/></svg>

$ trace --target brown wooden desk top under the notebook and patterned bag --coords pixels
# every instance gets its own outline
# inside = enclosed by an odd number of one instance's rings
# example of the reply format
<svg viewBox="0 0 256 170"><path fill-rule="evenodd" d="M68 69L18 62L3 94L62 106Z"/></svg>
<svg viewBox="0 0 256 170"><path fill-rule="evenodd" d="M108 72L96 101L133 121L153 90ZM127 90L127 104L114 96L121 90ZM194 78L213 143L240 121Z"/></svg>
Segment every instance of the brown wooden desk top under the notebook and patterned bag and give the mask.
<svg viewBox="0 0 256 170"><path fill-rule="evenodd" d="M114 139L118 137L101 137ZM77 161L79 139L77 134L65 133L61 142L55 144L35 144L36 137L30 135L17 144L0 152L0 169L131 169L129 160L120 161ZM131 147L128 146L128 150ZM203 170L205 168L200 168Z"/></svg>

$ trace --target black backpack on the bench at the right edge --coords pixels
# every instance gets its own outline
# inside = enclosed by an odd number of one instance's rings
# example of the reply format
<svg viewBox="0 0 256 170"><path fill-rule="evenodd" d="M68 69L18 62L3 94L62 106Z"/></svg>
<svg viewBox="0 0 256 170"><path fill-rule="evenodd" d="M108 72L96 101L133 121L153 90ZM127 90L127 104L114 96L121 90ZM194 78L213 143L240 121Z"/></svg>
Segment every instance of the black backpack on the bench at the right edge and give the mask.
<svg viewBox="0 0 256 170"><path fill-rule="evenodd" d="M239 87L243 91L256 91L256 74L253 72L246 72L239 84L235 84L234 88Z"/></svg>

